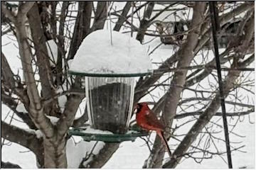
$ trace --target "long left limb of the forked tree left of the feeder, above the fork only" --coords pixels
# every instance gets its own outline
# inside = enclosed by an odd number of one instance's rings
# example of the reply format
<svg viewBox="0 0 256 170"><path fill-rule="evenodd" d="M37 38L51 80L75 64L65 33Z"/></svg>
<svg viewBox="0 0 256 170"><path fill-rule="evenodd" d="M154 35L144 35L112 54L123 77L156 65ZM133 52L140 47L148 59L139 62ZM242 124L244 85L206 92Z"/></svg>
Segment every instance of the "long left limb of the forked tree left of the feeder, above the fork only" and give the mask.
<svg viewBox="0 0 256 170"><path fill-rule="evenodd" d="M29 3L29 6L33 6L33 3ZM31 6L31 7L32 7ZM26 13L25 6L23 7L23 13ZM41 97L38 94L38 89L36 85L36 80L33 74L33 67L31 65L32 56L31 56L31 47L28 45L25 21L26 16L18 16L18 22L14 23L17 33L19 55L21 56L21 64L23 67L23 75L25 83L27 85L27 93L29 98L29 108L28 113L31 116L33 122L36 124L38 129L42 130L43 134L46 137L53 137L53 125L50 123L50 120L46 118L46 115L43 111L43 106L41 105Z"/></svg>

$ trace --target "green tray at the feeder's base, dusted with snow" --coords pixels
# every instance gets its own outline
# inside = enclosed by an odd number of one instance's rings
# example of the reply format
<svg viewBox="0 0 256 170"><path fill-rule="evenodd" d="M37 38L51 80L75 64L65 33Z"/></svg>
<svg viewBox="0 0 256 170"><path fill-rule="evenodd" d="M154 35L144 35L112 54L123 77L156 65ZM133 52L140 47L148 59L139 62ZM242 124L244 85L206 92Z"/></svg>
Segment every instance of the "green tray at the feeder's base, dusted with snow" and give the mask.
<svg viewBox="0 0 256 170"><path fill-rule="evenodd" d="M89 128L87 127L82 128L72 128L68 130L69 135L76 135L83 138L85 141L102 141L102 142L124 142L124 141L132 141L137 137L147 136L149 135L148 132L140 129L137 125L134 125L128 130L125 134L101 134L101 133L90 133L85 132L85 130Z"/></svg>

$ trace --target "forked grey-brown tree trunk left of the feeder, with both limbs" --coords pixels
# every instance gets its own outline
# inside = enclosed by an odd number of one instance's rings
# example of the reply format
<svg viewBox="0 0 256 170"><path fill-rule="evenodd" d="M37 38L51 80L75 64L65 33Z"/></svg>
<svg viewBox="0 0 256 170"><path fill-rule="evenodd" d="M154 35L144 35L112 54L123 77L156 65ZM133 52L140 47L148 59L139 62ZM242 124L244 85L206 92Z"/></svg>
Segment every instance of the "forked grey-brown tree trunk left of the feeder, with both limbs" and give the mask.
<svg viewBox="0 0 256 170"><path fill-rule="evenodd" d="M56 126L50 123L50 120L46 118L46 112L44 111L41 97L38 94L36 80L33 74L31 47L28 44L25 28L26 14L33 6L33 4L34 2L26 2L21 4L21 6L19 6L17 16L14 16L6 8L4 3L1 4L1 9L14 23L16 28L16 37L18 41L19 53L21 56L23 75L25 84L27 86L29 101L28 115L31 117L36 127L43 133L44 166L42 164L41 166L45 168L66 168L67 160L65 154L65 135L68 128L73 123L75 111L78 108L80 102L77 102L78 105L72 104L70 108L67 107L64 113L61 115L60 120L58 121L58 125ZM76 100L80 100L80 97L70 95L67 103L71 103L70 101Z"/></svg>

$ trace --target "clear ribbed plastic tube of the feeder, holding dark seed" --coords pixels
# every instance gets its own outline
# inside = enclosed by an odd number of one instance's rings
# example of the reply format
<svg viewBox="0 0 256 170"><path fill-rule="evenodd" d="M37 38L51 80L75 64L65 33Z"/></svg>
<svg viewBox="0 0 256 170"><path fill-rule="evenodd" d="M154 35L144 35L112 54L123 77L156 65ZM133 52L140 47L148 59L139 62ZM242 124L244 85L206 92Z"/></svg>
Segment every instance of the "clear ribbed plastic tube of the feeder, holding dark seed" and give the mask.
<svg viewBox="0 0 256 170"><path fill-rule="evenodd" d="M87 113L92 128L127 132L134 87L134 77L85 77Z"/></svg>

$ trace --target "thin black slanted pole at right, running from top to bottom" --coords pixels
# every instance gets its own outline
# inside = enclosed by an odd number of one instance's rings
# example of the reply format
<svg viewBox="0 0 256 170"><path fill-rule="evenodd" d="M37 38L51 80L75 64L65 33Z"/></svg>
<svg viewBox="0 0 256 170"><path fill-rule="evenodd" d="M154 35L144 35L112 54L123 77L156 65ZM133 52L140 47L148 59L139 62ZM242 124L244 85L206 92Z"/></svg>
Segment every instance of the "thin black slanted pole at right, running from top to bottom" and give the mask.
<svg viewBox="0 0 256 170"><path fill-rule="evenodd" d="M227 149L227 157L228 157L228 168L232 169L232 159L231 159L231 152L230 152L230 140L228 136L228 123L227 123L227 115L225 112L225 97L223 92L223 81L221 77L221 70L220 70L220 57L218 53L218 39L217 39L217 31L220 28L218 22L218 8L216 6L216 1L209 1L210 5L210 20L212 25L212 33L213 33L213 46L215 52L215 61L218 73L218 84L220 89L220 105L221 110L223 113L223 126L224 126L224 133L225 133L225 145Z"/></svg>

